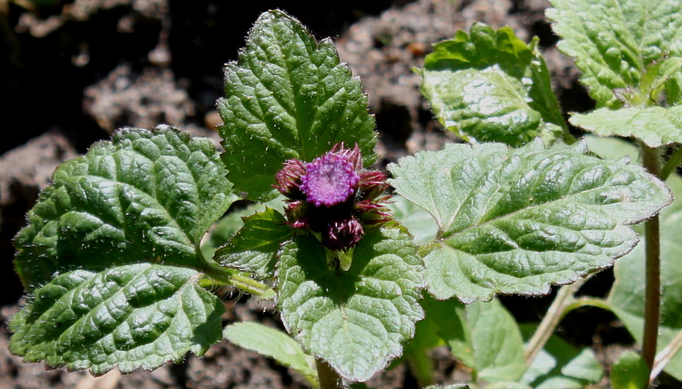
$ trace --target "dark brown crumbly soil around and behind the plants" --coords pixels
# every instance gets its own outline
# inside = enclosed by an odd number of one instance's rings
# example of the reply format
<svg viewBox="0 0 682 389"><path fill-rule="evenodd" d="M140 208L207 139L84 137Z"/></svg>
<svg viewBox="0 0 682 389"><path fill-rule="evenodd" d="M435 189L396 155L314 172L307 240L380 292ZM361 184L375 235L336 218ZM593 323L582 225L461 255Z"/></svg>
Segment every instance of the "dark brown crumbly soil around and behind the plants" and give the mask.
<svg viewBox="0 0 682 389"><path fill-rule="evenodd" d="M217 144L214 127L220 119L214 103L222 93L222 66L236 59L262 11L281 8L316 37L335 38L342 61L362 79L369 95L383 165L456 141L433 120L412 68L422 66L433 42L468 29L474 21L495 28L509 25L524 40L538 35L562 108L592 108L577 83L572 60L555 49L557 37L544 17L546 0L302 3L254 1L237 10L230 2L216 0L0 0L0 110L6 129L0 144L0 271L8 274L0 296L0 389L305 387L296 373L227 342L212 347L202 359L187 356L182 365L100 378L23 364L6 347L6 322L21 306L23 295L11 265L11 238L24 225L25 212L48 184L52 170L122 126L173 124ZM603 272L596 278L585 288L603 296L613 275ZM503 299L524 321L538 321L550 301L551 296ZM226 298L226 306L226 323L279 323L271 306L246 297ZM606 366L621 349L632 347L618 320L596 308L577 310L564 323L560 335L593 347ZM437 349L434 357L439 383L466 376L446 350ZM666 376L661 381L659 388L679 385ZM416 388L404 364L379 374L369 385ZM608 381L598 387L608 388Z"/></svg>

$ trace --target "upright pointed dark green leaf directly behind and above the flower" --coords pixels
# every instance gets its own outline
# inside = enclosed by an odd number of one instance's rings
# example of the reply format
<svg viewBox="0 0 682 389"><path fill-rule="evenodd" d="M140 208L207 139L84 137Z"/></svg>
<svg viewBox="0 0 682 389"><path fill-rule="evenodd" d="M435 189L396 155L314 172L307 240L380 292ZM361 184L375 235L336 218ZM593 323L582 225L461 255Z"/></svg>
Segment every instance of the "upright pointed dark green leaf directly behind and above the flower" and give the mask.
<svg viewBox="0 0 682 389"><path fill-rule="evenodd" d="M282 11L262 13L238 62L225 68L219 128L235 187L272 197L274 174L289 158L312 161L338 142L376 158L374 117L331 40L320 42Z"/></svg>

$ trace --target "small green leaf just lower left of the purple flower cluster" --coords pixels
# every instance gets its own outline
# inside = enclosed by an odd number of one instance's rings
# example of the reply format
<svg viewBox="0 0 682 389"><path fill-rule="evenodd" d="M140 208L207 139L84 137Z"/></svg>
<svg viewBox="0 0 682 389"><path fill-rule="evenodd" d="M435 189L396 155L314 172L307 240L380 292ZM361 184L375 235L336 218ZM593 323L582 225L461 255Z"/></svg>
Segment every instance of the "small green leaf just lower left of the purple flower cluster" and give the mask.
<svg viewBox="0 0 682 389"><path fill-rule="evenodd" d="M291 236L291 227L282 214L269 207L243 221L241 230L216 251L216 262L260 278L272 277L277 250Z"/></svg>

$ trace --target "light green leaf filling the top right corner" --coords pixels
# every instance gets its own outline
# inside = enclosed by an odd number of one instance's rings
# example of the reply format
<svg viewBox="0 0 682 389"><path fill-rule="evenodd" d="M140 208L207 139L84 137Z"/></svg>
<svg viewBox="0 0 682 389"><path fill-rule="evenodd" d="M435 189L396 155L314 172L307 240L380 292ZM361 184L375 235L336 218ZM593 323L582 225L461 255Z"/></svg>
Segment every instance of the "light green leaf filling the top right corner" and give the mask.
<svg viewBox="0 0 682 389"><path fill-rule="evenodd" d="M599 107L622 105L614 91L638 87L652 62L682 57L678 0L550 0L558 47L575 58Z"/></svg>

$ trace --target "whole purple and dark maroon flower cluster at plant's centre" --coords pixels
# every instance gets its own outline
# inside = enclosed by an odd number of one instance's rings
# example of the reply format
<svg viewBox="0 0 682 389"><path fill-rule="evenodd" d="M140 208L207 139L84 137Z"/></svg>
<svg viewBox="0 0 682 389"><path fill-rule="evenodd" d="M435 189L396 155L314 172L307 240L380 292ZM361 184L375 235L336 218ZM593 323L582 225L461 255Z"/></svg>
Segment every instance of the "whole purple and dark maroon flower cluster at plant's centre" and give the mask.
<svg viewBox="0 0 682 389"><path fill-rule="evenodd" d="M310 163L297 159L284 162L274 187L287 199L287 223L320 233L331 250L348 250L364 233L390 220L379 197L388 184L386 175L362 168L362 156L355 145L337 144Z"/></svg>

